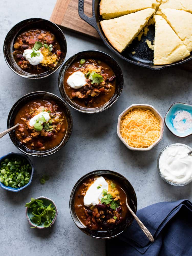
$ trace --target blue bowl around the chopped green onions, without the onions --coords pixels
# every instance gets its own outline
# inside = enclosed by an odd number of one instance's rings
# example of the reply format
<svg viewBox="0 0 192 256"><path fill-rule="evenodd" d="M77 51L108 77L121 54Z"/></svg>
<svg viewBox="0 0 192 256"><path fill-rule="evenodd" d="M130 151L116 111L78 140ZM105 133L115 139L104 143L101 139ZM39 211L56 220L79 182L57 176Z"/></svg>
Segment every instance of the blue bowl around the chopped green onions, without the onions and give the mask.
<svg viewBox="0 0 192 256"><path fill-rule="evenodd" d="M14 153L14 152L10 152L10 153L8 153L7 155L2 156L2 157L0 158L0 164L1 164L1 162L2 162L5 158L9 158L9 157L25 158L25 159L29 162L29 164L31 165L31 167L32 167L32 170L31 170L31 177L30 177L30 179L29 179L29 182L28 182L26 185L24 185L24 186L22 186L22 187L20 187L20 188L12 188L12 187L9 187L9 186L5 186L2 182L0 182L0 186L1 186L2 188L6 189L6 190L9 190L9 191L12 191L12 192L18 192L18 191L20 191L20 190L26 188L27 186L29 186L29 185L31 184L31 181L32 181L32 178L33 178L33 174L34 174L34 166L33 166L32 162L31 162L31 160L30 160L26 155L21 154L21 153Z"/></svg>

